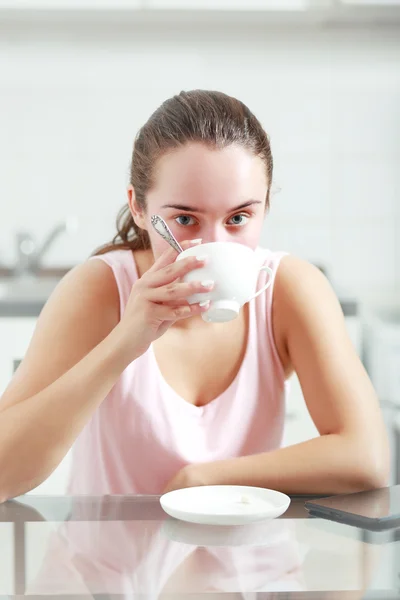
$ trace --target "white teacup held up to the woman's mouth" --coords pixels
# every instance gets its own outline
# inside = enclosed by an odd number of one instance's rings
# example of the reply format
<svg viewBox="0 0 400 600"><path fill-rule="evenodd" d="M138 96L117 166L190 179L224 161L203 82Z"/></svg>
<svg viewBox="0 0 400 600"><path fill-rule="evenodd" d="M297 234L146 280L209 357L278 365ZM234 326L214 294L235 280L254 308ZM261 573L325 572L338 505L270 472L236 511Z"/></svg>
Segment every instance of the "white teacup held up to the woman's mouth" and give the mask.
<svg viewBox="0 0 400 600"><path fill-rule="evenodd" d="M183 281L214 281L210 292L194 294L189 304L210 300L210 308L202 314L204 321L223 323L235 319L241 307L264 292L272 283L272 269L260 264L256 253L243 244L211 242L184 250L176 260L188 256L207 259L204 267L183 277ZM267 271L268 282L256 291L260 271Z"/></svg>

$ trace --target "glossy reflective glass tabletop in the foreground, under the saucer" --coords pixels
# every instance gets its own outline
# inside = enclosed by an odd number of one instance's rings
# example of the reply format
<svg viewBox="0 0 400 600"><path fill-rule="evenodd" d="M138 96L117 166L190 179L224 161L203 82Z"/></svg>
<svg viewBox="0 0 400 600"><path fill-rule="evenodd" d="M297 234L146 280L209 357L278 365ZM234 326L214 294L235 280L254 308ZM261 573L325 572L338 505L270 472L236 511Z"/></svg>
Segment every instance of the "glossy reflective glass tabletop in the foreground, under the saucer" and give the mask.
<svg viewBox="0 0 400 600"><path fill-rule="evenodd" d="M167 518L157 496L21 496L0 505L0 556L8 599L383 599L400 587L399 531L310 518L304 498L279 519L211 527Z"/></svg>

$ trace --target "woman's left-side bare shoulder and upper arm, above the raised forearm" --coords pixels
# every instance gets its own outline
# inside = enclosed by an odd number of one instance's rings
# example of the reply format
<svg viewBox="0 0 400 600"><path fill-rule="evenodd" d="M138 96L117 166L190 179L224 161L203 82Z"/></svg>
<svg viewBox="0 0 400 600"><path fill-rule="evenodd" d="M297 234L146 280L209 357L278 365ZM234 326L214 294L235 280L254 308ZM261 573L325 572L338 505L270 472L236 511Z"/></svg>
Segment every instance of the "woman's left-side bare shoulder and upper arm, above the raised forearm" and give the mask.
<svg viewBox="0 0 400 600"><path fill-rule="evenodd" d="M44 306L1 408L50 385L72 368L119 321L119 293L111 268L89 260L72 269Z"/></svg>

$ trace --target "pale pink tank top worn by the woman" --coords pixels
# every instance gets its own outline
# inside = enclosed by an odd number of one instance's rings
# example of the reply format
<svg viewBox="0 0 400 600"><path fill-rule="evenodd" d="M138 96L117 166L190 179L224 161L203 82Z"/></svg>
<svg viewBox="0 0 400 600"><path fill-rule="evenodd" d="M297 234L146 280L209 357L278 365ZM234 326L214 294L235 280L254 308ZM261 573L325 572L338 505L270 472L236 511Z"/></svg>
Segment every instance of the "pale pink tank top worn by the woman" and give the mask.
<svg viewBox="0 0 400 600"><path fill-rule="evenodd" d="M284 252L258 248L273 270L250 301L247 349L229 387L206 406L181 398L163 378L152 346L120 375L78 436L68 493L160 494L189 463L266 452L282 441L287 381L272 332L275 274ZM130 250L93 257L113 270L120 314L138 278ZM268 275L260 273L258 286Z"/></svg>

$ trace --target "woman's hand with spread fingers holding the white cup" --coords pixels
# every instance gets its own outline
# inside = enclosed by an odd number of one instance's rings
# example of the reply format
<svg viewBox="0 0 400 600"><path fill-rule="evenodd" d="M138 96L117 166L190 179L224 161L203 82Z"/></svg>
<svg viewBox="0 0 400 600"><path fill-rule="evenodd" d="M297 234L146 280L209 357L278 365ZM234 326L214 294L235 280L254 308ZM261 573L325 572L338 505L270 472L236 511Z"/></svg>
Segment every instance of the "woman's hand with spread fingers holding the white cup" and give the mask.
<svg viewBox="0 0 400 600"><path fill-rule="evenodd" d="M189 248L193 243L183 242L181 245ZM205 287L201 281L181 281L186 273L203 267L205 260L189 256L176 261L176 256L172 248L166 250L132 286L117 328L128 341L134 358L143 354L173 323L200 315L209 308L209 303L204 306L189 304L187 298L207 293L212 287Z"/></svg>

